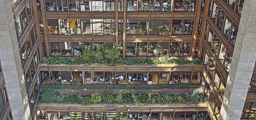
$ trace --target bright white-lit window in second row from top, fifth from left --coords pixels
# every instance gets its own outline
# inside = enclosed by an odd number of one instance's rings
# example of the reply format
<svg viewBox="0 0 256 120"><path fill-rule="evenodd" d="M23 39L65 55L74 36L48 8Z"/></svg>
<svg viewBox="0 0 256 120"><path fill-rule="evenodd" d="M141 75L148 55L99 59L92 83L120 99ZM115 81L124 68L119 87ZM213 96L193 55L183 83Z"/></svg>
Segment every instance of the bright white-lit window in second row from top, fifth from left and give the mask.
<svg viewBox="0 0 256 120"><path fill-rule="evenodd" d="M104 26L103 19L92 19L92 28L94 35L103 35Z"/></svg>

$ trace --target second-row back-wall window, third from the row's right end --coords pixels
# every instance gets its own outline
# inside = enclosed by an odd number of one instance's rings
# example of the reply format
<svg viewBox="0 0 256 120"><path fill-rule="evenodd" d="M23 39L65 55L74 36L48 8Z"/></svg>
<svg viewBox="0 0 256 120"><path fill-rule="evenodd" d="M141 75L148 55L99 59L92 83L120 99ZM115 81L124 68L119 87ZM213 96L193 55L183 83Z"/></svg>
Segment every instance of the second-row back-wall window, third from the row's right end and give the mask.
<svg viewBox="0 0 256 120"><path fill-rule="evenodd" d="M171 20L161 20L159 28L160 35L170 35Z"/></svg>

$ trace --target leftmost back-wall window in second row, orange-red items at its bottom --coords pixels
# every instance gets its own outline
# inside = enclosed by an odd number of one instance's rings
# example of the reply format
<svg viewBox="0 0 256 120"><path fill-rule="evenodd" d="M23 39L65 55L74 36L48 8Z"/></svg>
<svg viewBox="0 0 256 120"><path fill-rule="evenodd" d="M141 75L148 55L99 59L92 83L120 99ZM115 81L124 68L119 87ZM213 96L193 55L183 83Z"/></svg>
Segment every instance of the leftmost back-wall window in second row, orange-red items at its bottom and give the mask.
<svg viewBox="0 0 256 120"><path fill-rule="evenodd" d="M58 20L47 20L48 33L49 34L59 34L59 24Z"/></svg>

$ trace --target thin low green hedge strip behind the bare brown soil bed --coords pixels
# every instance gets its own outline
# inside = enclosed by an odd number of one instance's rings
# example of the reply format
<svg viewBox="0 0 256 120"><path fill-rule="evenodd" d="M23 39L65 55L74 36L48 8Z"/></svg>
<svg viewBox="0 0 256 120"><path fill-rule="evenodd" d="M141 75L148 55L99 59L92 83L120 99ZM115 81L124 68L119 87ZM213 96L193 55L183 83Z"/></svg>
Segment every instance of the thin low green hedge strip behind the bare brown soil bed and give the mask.
<svg viewBox="0 0 256 120"><path fill-rule="evenodd" d="M150 85L150 86L136 86L136 85L44 85L42 88L50 89L185 89L185 88L200 88L200 86L189 86L189 85Z"/></svg>

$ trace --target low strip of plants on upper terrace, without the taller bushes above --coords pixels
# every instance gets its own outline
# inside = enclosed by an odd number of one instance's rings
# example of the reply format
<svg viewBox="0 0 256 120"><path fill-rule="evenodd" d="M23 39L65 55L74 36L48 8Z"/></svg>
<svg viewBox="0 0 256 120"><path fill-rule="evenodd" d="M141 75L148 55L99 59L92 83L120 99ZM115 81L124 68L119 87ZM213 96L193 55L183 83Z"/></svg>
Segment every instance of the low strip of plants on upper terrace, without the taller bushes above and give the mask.
<svg viewBox="0 0 256 120"><path fill-rule="evenodd" d="M47 59L42 59L40 60L40 64L47 64L47 65L52 65L52 64L67 64L67 65L80 65L80 64L86 64L86 65L92 65L92 64L105 64L107 66L120 66L120 65L153 65L153 64L196 64L196 65L201 65L202 60L200 59L194 59L194 60L177 60L175 58L168 58L165 56L161 60L158 59L145 59L145 60L138 60L134 58L127 58L126 60L116 60L116 59L90 59L90 60L85 60L85 59L68 59L66 57L49 57Z"/></svg>

